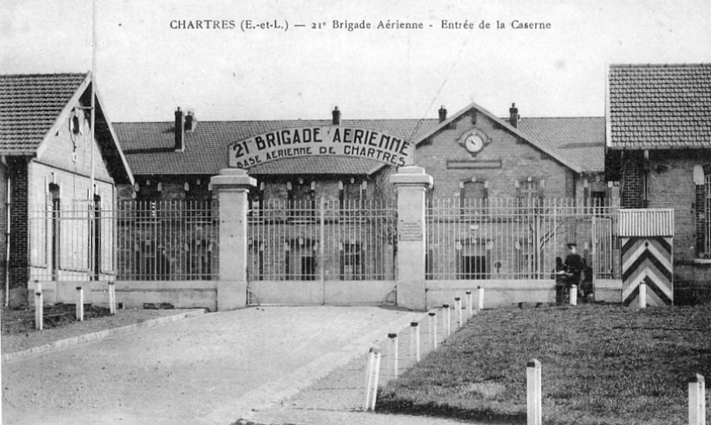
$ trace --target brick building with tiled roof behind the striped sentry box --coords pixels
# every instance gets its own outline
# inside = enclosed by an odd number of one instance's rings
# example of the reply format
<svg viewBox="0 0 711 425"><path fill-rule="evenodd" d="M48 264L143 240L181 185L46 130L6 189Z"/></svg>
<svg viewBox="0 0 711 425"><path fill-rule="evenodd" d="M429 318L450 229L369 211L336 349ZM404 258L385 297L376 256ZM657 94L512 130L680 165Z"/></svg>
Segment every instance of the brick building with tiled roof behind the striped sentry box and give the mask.
<svg viewBox="0 0 711 425"><path fill-rule="evenodd" d="M711 279L711 64L611 65L606 165L624 208L673 208L676 297Z"/></svg>

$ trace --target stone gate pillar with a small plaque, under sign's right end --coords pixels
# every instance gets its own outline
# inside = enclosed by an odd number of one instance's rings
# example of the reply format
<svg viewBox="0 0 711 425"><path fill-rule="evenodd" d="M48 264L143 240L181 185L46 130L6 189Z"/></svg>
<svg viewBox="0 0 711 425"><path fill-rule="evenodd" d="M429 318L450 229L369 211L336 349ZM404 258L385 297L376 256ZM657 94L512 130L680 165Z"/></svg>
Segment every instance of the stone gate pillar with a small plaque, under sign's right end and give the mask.
<svg viewBox="0 0 711 425"><path fill-rule="evenodd" d="M397 305L424 311L425 193L432 176L417 166L390 176L397 190Z"/></svg>

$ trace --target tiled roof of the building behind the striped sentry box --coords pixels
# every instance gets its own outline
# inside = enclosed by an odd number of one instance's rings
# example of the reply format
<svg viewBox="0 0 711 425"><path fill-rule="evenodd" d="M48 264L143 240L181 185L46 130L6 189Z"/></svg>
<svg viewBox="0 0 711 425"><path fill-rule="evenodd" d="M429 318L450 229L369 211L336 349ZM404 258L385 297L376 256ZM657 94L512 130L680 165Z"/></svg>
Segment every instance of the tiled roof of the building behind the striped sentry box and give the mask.
<svg viewBox="0 0 711 425"><path fill-rule="evenodd" d="M711 147L711 64L611 65L611 149Z"/></svg>

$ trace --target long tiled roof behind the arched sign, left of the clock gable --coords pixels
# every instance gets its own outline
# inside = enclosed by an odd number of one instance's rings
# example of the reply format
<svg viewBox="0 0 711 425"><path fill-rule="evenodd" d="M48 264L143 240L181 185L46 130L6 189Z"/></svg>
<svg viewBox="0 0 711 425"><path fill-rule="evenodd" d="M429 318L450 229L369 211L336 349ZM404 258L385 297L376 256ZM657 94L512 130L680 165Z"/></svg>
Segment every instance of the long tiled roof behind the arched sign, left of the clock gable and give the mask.
<svg viewBox="0 0 711 425"><path fill-rule="evenodd" d="M407 140L437 124L437 119L356 119L342 125L375 129ZM217 174L227 167L228 144L257 134L296 127L328 126L331 120L198 122L186 131L185 151L175 152L173 122L113 124L134 174ZM382 163L364 158L284 158L250 168L250 174L369 174Z"/></svg>

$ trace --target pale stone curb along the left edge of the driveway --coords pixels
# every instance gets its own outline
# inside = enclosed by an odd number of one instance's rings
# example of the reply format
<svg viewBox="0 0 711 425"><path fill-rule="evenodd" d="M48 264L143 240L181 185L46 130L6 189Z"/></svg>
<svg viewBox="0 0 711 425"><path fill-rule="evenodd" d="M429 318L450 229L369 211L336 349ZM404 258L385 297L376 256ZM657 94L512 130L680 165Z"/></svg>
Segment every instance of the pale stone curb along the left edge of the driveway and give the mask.
<svg viewBox="0 0 711 425"><path fill-rule="evenodd" d="M124 333L132 332L133 330L139 330L143 328L153 328L154 326L161 326L167 323L172 323L180 321L186 318L202 316L205 314L204 310L198 311L188 311L186 313L176 314L175 316L166 316L161 318L154 318L147 321L134 323L132 325L122 326L120 328L112 328L106 330L100 330L98 332L86 333L84 335L75 336L72 338L66 338L63 340L58 340L53 343L38 345L37 347L28 348L26 350L16 351L15 353L7 353L0 357L0 361L7 362L10 360L17 360L25 357L31 357L33 355L38 355L41 353L50 353L60 348L72 347L74 345L79 345L82 343L89 343L91 341L98 341L109 336L123 335Z"/></svg>

